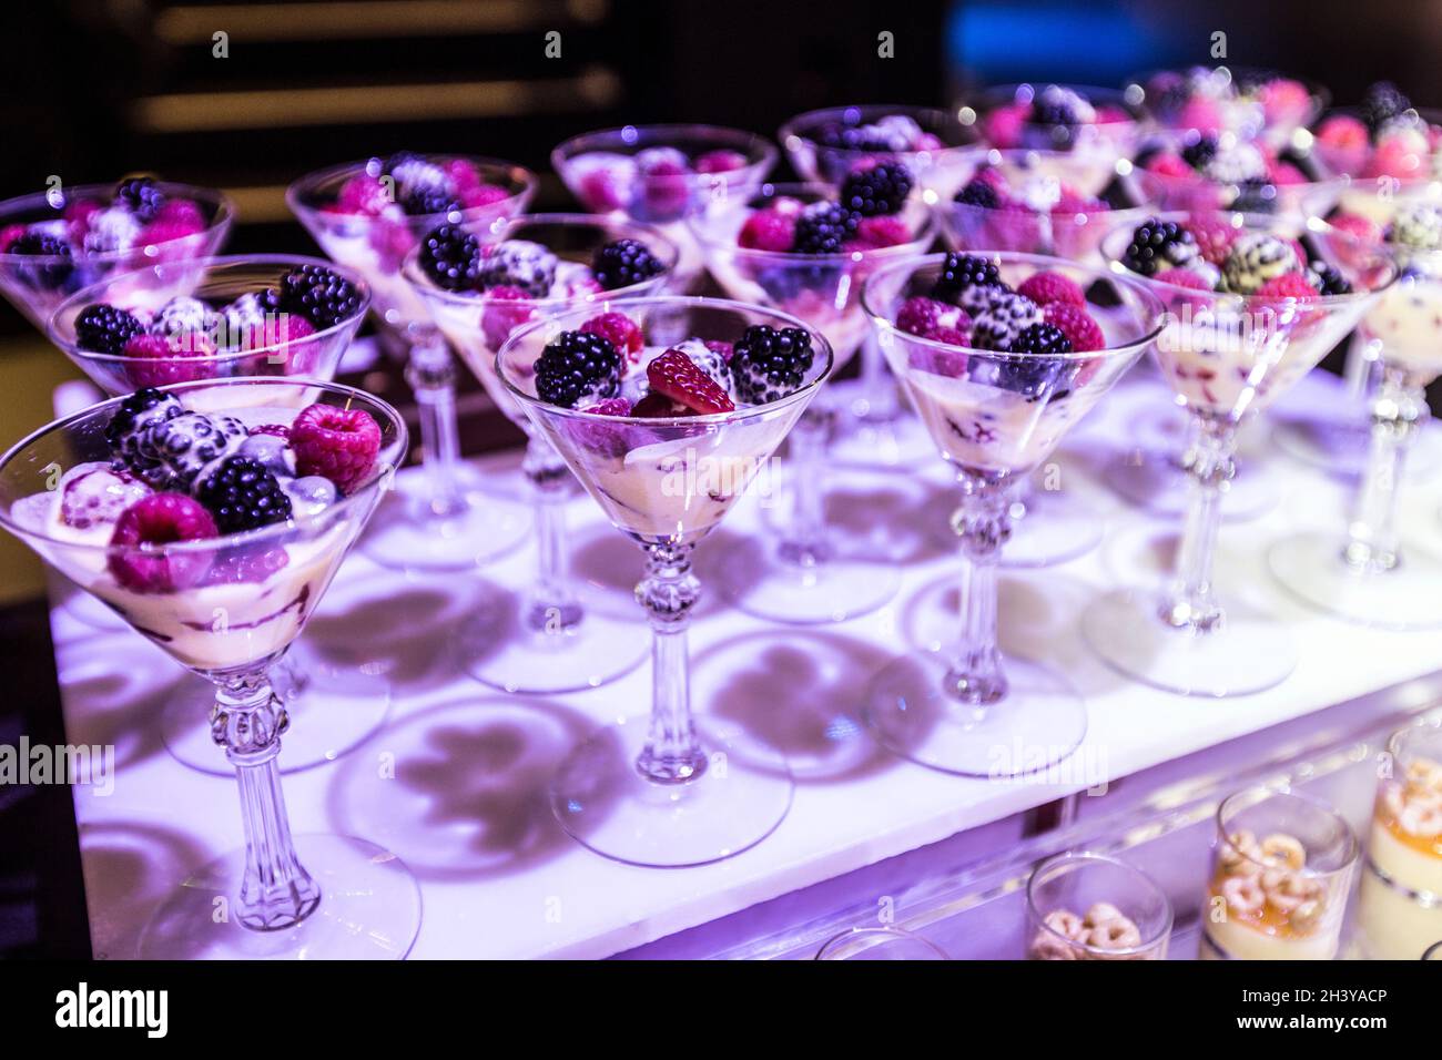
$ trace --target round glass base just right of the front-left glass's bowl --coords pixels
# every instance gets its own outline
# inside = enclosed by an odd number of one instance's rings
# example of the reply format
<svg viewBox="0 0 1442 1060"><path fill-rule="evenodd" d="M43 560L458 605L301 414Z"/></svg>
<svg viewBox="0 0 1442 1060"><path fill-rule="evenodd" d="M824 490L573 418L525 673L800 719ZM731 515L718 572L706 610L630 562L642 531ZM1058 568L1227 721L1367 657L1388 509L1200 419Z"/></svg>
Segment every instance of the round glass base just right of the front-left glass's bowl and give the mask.
<svg viewBox="0 0 1442 1060"><path fill-rule="evenodd" d="M431 509L427 485L424 474L407 476L382 500L360 538L362 552L392 570L456 571L505 555L531 534L523 503L479 493L461 476L464 506L443 516Z"/></svg>

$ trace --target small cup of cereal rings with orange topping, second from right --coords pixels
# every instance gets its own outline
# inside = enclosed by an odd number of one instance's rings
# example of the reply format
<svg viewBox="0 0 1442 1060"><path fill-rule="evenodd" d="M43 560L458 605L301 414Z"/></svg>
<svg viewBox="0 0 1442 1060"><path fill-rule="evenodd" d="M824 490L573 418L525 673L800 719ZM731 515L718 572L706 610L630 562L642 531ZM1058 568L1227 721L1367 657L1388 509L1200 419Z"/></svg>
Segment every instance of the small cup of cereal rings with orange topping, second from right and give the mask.
<svg viewBox="0 0 1442 1060"><path fill-rule="evenodd" d="M1247 787L1217 809L1203 960L1331 960L1358 847L1331 806Z"/></svg>

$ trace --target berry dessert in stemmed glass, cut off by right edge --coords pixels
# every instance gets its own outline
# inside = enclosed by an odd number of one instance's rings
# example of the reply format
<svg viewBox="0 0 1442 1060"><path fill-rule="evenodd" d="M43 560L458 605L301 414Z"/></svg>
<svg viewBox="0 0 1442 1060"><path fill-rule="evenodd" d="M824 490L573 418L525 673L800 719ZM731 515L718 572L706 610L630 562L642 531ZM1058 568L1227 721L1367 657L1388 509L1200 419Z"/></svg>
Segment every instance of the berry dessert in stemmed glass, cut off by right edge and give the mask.
<svg viewBox="0 0 1442 1060"><path fill-rule="evenodd" d="M1407 456L1432 418L1426 388L1442 376L1442 186L1402 185L1380 200L1348 195L1330 222L1312 225L1338 245L1358 237L1358 252L1387 252L1402 275L1358 329L1380 378L1368 408L1366 469L1345 526L1283 538L1268 561L1288 591L1330 614L1386 629L1438 627L1442 560L1426 542L1403 547L1399 503ZM1435 529L1430 521L1428 528Z"/></svg>

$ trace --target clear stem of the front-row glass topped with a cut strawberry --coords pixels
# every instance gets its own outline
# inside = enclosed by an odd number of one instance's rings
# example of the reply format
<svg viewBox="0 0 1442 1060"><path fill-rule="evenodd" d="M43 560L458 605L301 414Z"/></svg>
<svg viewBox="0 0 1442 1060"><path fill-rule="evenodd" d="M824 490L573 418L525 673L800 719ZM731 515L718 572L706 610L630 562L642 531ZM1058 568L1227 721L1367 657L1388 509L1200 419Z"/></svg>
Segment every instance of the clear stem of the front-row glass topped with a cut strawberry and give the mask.
<svg viewBox="0 0 1442 1060"><path fill-rule="evenodd" d="M647 780L673 785L694 780L707 769L691 718L691 668L686 627L701 597L701 583L691 573L695 545L646 545L646 577L636 586L636 600L646 609L652 629L652 707L646 747L636 760Z"/></svg>

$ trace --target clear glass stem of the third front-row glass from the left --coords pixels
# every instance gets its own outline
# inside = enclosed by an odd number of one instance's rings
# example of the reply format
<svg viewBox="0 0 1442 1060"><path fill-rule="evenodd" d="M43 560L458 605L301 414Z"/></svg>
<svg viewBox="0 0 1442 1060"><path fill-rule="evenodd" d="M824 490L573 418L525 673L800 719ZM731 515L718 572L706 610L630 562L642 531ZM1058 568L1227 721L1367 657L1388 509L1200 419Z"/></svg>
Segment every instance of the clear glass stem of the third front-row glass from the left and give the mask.
<svg viewBox="0 0 1442 1060"><path fill-rule="evenodd" d="M946 688L973 707L988 707L1007 695L1001 650L996 646L996 562L1011 536L1008 485L962 472L962 503L952 515L960 538L960 626L952 649Z"/></svg>

